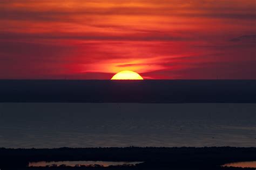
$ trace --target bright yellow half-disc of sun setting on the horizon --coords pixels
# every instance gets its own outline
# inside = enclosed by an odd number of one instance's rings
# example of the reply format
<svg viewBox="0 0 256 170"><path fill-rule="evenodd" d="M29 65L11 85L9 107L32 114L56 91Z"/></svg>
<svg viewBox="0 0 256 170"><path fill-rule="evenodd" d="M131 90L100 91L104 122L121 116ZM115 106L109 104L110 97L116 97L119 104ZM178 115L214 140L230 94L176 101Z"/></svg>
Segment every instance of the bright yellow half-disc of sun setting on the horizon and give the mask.
<svg viewBox="0 0 256 170"><path fill-rule="evenodd" d="M143 78L136 72L125 70L115 74L111 80L143 80Z"/></svg>

